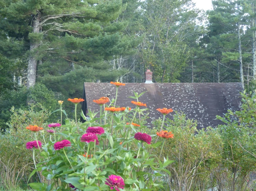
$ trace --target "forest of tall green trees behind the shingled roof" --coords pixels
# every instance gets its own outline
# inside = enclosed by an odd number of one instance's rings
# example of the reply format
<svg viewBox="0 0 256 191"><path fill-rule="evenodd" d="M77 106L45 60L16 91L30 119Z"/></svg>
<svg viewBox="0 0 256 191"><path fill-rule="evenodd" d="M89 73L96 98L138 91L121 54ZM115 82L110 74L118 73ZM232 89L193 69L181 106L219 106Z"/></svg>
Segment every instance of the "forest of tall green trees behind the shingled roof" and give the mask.
<svg viewBox="0 0 256 191"><path fill-rule="evenodd" d="M146 69L153 82L241 82L250 91L256 2L212 4L205 12L191 0L2 0L1 129L12 106L52 112L56 100L80 98L83 82L144 82Z"/></svg>

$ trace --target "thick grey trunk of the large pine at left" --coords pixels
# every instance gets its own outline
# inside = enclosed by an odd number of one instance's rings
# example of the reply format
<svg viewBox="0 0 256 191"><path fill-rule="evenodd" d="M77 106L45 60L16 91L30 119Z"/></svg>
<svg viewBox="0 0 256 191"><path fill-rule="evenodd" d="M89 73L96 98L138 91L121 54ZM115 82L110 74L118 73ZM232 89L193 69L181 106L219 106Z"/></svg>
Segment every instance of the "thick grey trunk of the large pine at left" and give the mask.
<svg viewBox="0 0 256 191"><path fill-rule="evenodd" d="M40 14L37 14L32 21L33 33L39 33L40 30ZM33 87L36 83L36 52L35 49L39 47L38 41L30 42L30 56L28 60L28 71L27 71L27 89Z"/></svg>

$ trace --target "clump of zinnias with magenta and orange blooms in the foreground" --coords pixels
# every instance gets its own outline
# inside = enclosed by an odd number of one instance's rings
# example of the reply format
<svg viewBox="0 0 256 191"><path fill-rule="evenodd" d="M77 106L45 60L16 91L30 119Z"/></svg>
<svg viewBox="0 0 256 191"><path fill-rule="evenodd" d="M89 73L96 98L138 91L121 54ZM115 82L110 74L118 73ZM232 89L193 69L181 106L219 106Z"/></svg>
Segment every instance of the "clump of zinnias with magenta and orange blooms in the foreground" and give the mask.
<svg viewBox="0 0 256 191"><path fill-rule="evenodd" d="M116 90L119 84L115 83ZM141 94L135 93L134 98L138 101L140 96ZM69 100L75 103L76 108L81 101L77 98ZM151 152L153 148L163 145L165 139L150 144L151 136L142 133L146 127L141 118L139 117L140 124L133 123L136 114L139 113L140 116L147 109L141 109L138 105L131 110L116 108L115 101L113 99L109 105L113 106L111 108L100 104L99 118L95 118L97 113L89 111L89 117L82 114L87 120L85 123L78 124L76 119L76 124L72 124L66 119L65 125L52 129L50 141L42 144L42 150L39 144L35 145L33 153L39 148L42 162L36 164L34 161L35 170L31 175L42 171L44 177L51 182L34 182L29 184L30 187L49 191L70 188L88 191L115 188L117 191L130 191L154 190L159 186L155 182L157 177L162 176L161 172L169 173L165 167L172 161L168 157L160 160ZM127 119L129 113L134 114L132 119ZM106 119L110 119L110 123L106 123ZM130 123L126 124L127 121ZM29 129L34 131L32 135L37 140L40 132L38 127L31 126ZM134 147L136 149L132 149ZM147 168L152 170L146 171Z"/></svg>

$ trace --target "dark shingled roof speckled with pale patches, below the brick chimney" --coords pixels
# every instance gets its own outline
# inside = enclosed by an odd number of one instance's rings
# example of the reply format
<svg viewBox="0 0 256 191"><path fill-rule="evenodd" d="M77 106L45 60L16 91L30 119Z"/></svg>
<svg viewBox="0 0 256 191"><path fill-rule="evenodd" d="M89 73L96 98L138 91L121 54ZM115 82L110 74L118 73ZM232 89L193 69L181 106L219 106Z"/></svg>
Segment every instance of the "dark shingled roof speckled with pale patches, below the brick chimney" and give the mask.
<svg viewBox="0 0 256 191"><path fill-rule="evenodd" d="M228 109L239 110L239 92L243 89L241 83L126 83L118 88L116 105L134 108L135 105L131 103L134 99L128 98L134 96L133 91L147 91L139 101L147 103L150 121L162 117L157 108L172 108L175 111L183 111L187 118L196 119L198 128L201 129L216 127L220 123L219 120L214 120L216 115L223 116ZM83 99L86 102L82 105L84 113L87 113L87 108L99 111L98 104L92 100L107 94L110 94L110 99L115 98L115 92L116 87L110 83L85 83ZM166 117L172 118L171 114Z"/></svg>

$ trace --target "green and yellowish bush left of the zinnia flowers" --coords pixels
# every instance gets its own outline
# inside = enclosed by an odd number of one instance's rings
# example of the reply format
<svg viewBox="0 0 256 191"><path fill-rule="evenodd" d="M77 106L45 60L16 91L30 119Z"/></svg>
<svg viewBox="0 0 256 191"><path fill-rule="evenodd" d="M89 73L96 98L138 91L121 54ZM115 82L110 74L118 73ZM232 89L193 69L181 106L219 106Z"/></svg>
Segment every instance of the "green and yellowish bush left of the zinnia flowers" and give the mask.
<svg viewBox="0 0 256 191"><path fill-rule="evenodd" d="M41 110L35 111L34 108ZM11 113L9 128L0 135L0 185L5 189L26 188L33 160L31 152L24 147L31 140L24 129L28 124L44 126L50 113L42 105L36 107L34 104L29 106L29 110L12 107ZM36 180L36 177L32 178Z"/></svg>

